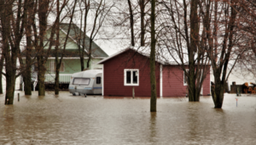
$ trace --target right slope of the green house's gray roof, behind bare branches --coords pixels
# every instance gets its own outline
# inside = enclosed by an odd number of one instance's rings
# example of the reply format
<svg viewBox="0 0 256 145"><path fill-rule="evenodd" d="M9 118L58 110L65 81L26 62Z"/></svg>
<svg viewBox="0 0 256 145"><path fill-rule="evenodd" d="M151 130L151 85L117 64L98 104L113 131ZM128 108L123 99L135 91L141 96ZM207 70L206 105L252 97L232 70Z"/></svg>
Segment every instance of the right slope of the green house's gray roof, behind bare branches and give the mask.
<svg viewBox="0 0 256 145"><path fill-rule="evenodd" d="M61 31L65 32L67 34L68 30L68 23L61 23ZM79 28L79 26L75 24L71 24L71 29L69 31L69 37L73 39L75 43L80 39L79 34L83 34L83 31ZM90 38L86 35L85 36L85 51L88 52L89 50L89 41ZM106 52L100 48L96 43L92 42L92 48L91 48L91 53L93 57L108 57Z"/></svg>

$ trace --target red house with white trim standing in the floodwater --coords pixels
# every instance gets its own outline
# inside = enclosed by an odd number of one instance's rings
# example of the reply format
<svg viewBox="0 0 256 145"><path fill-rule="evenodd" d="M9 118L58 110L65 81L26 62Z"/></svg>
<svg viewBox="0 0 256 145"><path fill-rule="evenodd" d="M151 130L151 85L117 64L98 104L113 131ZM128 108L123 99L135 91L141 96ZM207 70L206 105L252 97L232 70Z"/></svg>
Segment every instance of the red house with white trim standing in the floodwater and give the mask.
<svg viewBox="0 0 256 145"><path fill-rule="evenodd" d="M135 49L125 49L99 61L103 64L102 96L150 96L149 57ZM157 96L186 96L183 70L177 65L155 61ZM210 73L205 78L202 95L210 94Z"/></svg>

